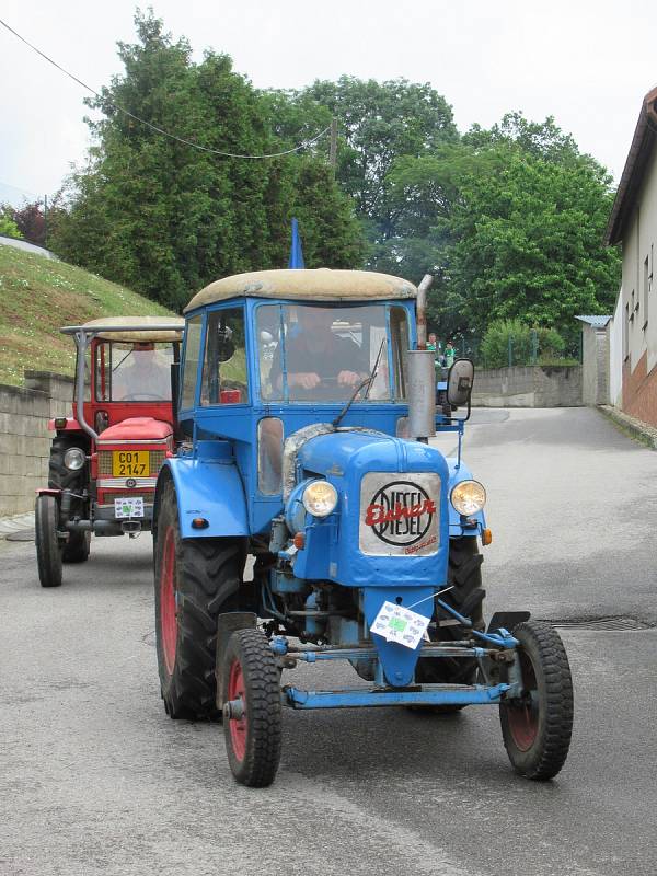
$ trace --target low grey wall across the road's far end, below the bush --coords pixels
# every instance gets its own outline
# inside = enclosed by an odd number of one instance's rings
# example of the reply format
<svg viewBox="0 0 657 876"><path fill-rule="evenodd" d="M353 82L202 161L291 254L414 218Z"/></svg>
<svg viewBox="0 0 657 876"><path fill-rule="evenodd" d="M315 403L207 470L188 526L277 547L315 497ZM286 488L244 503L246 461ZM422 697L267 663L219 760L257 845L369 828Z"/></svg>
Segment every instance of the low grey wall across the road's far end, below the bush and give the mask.
<svg viewBox="0 0 657 876"><path fill-rule="evenodd" d="M579 407L581 366L528 366L476 370L475 407Z"/></svg>

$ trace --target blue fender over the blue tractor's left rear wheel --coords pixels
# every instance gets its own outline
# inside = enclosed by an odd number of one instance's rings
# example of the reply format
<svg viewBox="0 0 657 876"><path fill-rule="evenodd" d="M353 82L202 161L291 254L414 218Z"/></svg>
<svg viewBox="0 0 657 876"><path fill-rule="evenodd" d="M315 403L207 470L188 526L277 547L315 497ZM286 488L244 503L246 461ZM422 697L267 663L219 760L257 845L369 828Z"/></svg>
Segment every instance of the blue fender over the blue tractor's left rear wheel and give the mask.
<svg viewBox="0 0 657 876"><path fill-rule="evenodd" d="M175 486L181 538L250 534L244 487L233 459L186 456L164 460L158 477L155 508L166 477L172 477ZM193 529L195 517L205 518L209 526Z"/></svg>

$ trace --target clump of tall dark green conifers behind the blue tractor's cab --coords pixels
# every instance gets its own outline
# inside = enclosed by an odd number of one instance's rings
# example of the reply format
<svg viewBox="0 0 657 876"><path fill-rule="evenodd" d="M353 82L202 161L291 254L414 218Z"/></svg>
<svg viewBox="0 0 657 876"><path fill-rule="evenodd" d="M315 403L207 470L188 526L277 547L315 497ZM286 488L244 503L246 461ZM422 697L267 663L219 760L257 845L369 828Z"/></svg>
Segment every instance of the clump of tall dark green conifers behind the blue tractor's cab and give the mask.
<svg viewBox="0 0 657 876"><path fill-rule="evenodd" d="M358 264L362 242L348 199L322 157L247 160L280 151L272 103L232 70L226 55L191 58L152 13L137 13L138 39L119 44L125 66L91 106L96 145L68 183L54 247L71 261L174 309L227 274L287 263L291 216L304 218L309 265ZM311 208L312 207L312 208ZM319 265L318 265L319 266Z"/></svg>

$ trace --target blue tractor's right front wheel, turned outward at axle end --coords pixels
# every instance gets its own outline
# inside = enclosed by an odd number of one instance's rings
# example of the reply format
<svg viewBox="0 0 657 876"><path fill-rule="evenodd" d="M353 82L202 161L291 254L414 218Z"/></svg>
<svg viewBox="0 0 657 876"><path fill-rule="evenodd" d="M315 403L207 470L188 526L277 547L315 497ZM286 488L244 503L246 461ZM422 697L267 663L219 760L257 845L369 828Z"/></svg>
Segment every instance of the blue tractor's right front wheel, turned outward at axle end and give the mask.
<svg viewBox="0 0 657 876"><path fill-rule="evenodd" d="M516 772L554 777L565 763L573 731L573 680L561 636L550 624L528 621L514 630L520 643L520 698L499 705L502 736Z"/></svg>

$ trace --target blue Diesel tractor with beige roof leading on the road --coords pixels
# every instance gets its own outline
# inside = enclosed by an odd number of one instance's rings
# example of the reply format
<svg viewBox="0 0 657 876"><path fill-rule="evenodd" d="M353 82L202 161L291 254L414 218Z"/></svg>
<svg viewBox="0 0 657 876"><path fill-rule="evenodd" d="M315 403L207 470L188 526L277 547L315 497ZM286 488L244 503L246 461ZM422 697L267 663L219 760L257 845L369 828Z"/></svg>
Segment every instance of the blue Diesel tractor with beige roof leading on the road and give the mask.
<svg viewBox="0 0 657 876"><path fill-rule="evenodd" d="M272 783L281 711L497 705L514 768L550 779L573 721L557 633L483 613L485 491L461 459L473 367L436 412L423 281L263 270L186 308L181 447L154 507L157 650L172 718L222 719L231 770ZM458 437L445 457L429 438ZM293 682L343 660L344 689ZM383 715L385 713L382 713Z"/></svg>

